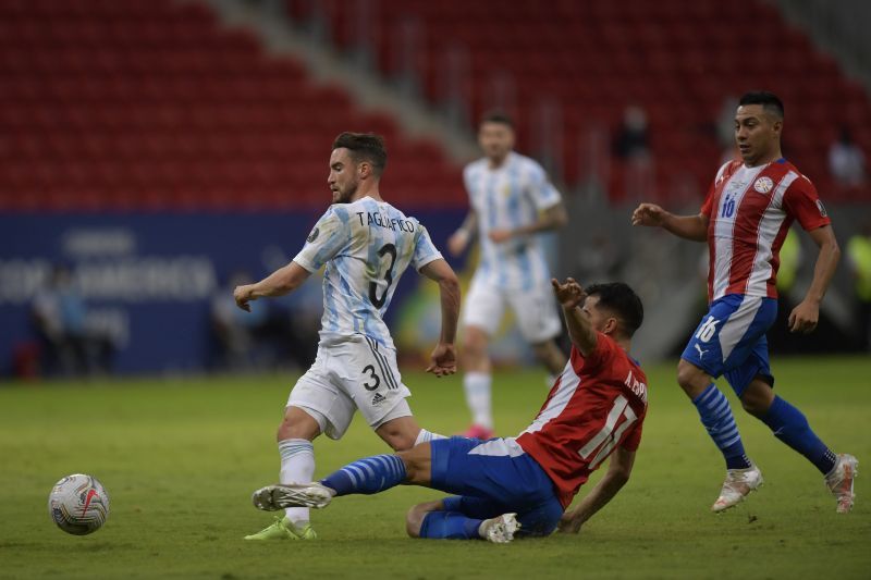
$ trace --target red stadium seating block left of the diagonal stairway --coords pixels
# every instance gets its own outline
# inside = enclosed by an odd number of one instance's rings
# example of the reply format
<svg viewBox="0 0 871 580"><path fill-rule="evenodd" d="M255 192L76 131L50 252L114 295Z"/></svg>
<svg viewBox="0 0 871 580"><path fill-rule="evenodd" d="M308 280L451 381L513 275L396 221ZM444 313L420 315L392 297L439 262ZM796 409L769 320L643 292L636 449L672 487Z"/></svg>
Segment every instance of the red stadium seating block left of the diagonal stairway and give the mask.
<svg viewBox="0 0 871 580"><path fill-rule="evenodd" d="M465 203L438 146L201 4L0 2L0 211L319 208L348 129L385 135L391 201Z"/></svg>

